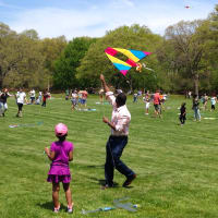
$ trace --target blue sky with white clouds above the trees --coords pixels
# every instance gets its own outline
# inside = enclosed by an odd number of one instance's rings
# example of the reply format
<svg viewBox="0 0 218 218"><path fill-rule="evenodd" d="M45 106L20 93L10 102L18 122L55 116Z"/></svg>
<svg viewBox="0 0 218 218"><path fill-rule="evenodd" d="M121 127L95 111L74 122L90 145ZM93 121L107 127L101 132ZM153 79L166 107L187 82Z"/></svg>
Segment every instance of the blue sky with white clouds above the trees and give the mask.
<svg viewBox="0 0 218 218"><path fill-rule="evenodd" d="M100 37L122 25L148 26L164 35L179 21L206 19L217 0L0 0L0 22L40 38L64 35ZM190 9L185 9L190 5Z"/></svg>

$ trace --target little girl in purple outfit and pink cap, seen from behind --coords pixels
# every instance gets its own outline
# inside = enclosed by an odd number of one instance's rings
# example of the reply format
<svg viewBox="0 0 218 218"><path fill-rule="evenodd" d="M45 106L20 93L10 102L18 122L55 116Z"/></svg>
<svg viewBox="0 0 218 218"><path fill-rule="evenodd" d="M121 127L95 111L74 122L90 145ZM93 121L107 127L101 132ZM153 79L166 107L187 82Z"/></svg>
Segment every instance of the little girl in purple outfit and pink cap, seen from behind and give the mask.
<svg viewBox="0 0 218 218"><path fill-rule="evenodd" d="M69 161L73 160L74 146L72 143L65 141L65 137L68 136L66 125L63 123L57 124L55 132L58 141L51 143L50 149L48 147L45 148L45 153L52 161L48 172L47 181L52 183L53 211L58 213L60 210L59 191L60 182L62 182L68 202L68 213L73 213L73 202L70 190L71 172L69 168Z"/></svg>

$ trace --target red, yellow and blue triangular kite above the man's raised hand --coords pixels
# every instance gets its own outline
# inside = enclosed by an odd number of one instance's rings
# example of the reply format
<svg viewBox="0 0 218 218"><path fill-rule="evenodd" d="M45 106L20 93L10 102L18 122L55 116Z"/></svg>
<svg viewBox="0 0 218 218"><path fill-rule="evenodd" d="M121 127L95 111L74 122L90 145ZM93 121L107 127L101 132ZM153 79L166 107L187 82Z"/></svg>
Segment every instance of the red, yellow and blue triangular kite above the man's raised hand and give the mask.
<svg viewBox="0 0 218 218"><path fill-rule="evenodd" d="M107 57L110 59L110 61L113 63L113 65L120 71L120 73L122 73L123 75L126 75L128 71L132 68L132 66L136 66L138 68L138 65L141 65L140 63L137 63L141 59L145 58L146 56L149 56L150 52L147 51L138 51L138 50L126 50L126 49L122 49L122 48L111 48L108 47L105 50ZM116 58L114 56L121 52L124 56L126 56L129 59L124 62L118 58Z"/></svg>

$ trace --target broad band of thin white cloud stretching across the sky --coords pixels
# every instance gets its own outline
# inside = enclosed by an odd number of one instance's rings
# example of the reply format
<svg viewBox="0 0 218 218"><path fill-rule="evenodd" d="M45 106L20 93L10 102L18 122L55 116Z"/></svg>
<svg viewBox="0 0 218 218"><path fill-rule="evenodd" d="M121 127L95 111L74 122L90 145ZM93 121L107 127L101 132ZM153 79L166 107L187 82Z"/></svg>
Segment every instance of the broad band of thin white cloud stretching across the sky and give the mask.
<svg viewBox="0 0 218 218"><path fill-rule="evenodd" d="M184 9L183 3L174 5L157 4L134 5L131 0L114 0L107 5L90 5L85 9L43 8L21 11L9 25L16 32L34 28L41 38L64 35L68 39L77 36L100 37L106 31L122 25L148 26L154 33L164 34L165 28L181 20L205 19L213 5ZM0 0L1 2L1 0ZM113 4L117 2L117 4ZM117 8L116 8L117 7ZM119 8L122 7L122 10Z"/></svg>

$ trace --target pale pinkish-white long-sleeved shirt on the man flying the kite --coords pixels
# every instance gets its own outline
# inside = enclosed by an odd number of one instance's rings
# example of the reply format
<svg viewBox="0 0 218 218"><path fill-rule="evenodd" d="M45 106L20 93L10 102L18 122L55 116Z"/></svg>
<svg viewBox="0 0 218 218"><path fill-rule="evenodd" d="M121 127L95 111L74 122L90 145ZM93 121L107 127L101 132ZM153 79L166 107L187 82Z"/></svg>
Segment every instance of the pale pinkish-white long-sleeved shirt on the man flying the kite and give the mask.
<svg viewBox="0 0 218 218"><path fill-rule="evenodd" d="M116 97L112 92L106 93L107 99L111 102L112 116L111 116L111 123L116 126L116 131L111 129L111 135L122 136L129 134L129 125L131 121L131 114L128 110L128 107L121 106L117 107Z"/></svg>

